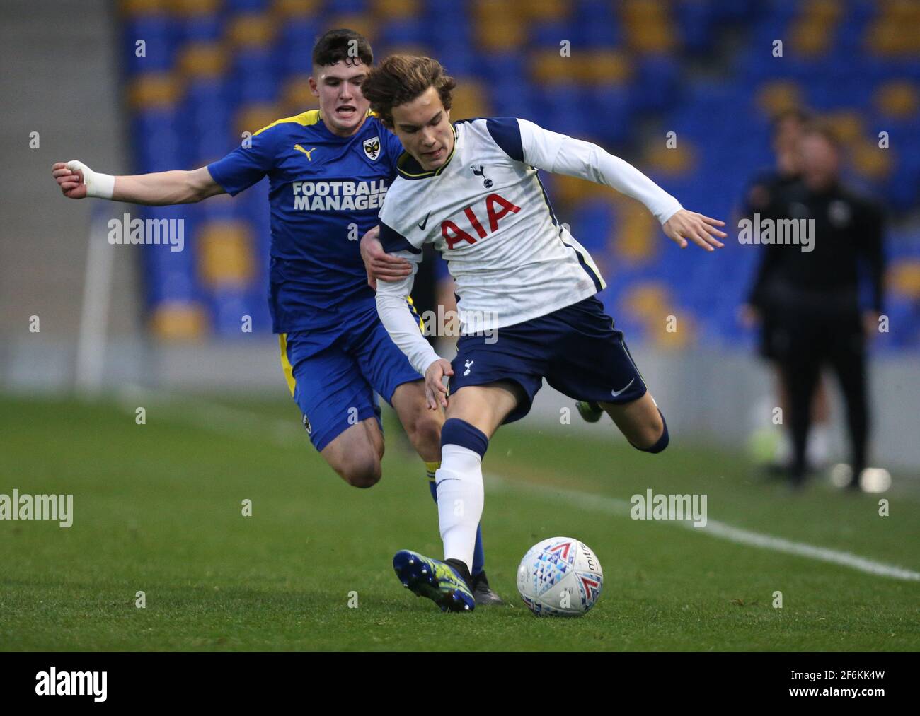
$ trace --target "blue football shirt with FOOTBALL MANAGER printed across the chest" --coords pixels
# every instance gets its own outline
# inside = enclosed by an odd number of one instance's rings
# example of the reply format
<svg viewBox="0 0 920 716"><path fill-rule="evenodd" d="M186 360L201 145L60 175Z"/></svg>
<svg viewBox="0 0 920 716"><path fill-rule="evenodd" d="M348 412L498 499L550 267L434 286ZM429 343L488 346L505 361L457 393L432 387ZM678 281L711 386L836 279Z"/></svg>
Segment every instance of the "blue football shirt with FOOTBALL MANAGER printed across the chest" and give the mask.
<svg viewBox="0 0 920 716"><path fill-rule="evenodd" d="M377 224L402 153L373 114L351 137L318 109L278 119L208 171L231 196L269 177L270 312L275 333L339 324L352 301L373 301L359 243Z"/></svg>

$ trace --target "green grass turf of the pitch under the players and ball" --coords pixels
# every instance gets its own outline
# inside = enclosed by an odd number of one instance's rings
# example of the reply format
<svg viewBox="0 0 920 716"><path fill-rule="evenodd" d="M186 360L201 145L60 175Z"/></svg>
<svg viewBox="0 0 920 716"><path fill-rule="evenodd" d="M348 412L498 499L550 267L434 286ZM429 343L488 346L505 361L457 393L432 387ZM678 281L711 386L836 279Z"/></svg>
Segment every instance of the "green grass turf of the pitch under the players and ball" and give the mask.
<svg viewBox="0 0 920 716"><path fill-rule="evenodd" d="M133 405L147 408L146 425ZM440 555L420 462L396 428L384 480L359 491L309 447L289 401L229 407L0 398L0 493L75 495L71 528L0 521L0 651L920 647L920 583L572 506L546 489L707 494L710 520L917 571L910 480L896 476L891 516L880 517L878 496L822 484L788 494L753 479L741 455L692 438L650 456L613 432L524 421L500 431L485 461L487 566L512 606L442 614L390 566L401 548ZM523 552L556 535L584 540L604 566L604 594L582 619L537 619L517 597Z"/></svg>

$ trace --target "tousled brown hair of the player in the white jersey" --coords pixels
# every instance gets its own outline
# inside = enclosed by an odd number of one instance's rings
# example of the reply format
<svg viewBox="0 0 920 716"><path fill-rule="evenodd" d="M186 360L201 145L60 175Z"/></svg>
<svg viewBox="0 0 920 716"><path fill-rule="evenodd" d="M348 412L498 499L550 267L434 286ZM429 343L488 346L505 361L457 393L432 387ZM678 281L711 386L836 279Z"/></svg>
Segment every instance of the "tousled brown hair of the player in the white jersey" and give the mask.
<svg viewBox="0 0 920 716"><path fill-rule="evenodd" d="M437 60L418 55L391 55L368 73L361 85L362 95L385 126L393 129L393 108L411 102L434 87L444 109L451 108L451 92L456 86Z"/></svg>

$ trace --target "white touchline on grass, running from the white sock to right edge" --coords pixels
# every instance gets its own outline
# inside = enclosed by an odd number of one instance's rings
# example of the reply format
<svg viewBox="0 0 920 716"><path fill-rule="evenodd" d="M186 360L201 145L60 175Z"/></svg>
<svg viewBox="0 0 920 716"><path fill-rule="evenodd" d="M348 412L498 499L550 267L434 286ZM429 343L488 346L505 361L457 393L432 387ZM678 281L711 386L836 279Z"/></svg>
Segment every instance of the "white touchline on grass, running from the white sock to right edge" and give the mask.
<svg viewBox="0 0 920 716"><path fill-rule="evenodd" d="M620 500L615 497L606 497L603 494L583 493L562 487L549 487L542 484L522 484L512 480L506 480L494 473L489 473L487 475L486 484L487 486L499 486L504 489L512 488L522 493L535 493L545 497L551 496L555 500L561 498L571 506L606 512L609 515L616 515L617 517L628 517L631 508L626 500ZM757 547L762 550L794 554L797 557L808 557L813 560L818 560L819 562L840 564L841 566L851 567L852 569L856 569L859 572L865 572L866 574L878 574L880 576L891 577L892 579L920 582L920 572L914 572L913 570L904 569L903 567L898 567L893 564L876 562L848 551L816 547L807 542L784 540L781 537L765 535L760 532L754 532L751 529L732 527L731 525L727 525L715 519L709 519L704 528L695 528L693 527L693 523L687 520L666 521L678 527L689 528L694 532L716 537L719 538L719 540L730 541L734 544L743 544L749 547Z"/></svg>

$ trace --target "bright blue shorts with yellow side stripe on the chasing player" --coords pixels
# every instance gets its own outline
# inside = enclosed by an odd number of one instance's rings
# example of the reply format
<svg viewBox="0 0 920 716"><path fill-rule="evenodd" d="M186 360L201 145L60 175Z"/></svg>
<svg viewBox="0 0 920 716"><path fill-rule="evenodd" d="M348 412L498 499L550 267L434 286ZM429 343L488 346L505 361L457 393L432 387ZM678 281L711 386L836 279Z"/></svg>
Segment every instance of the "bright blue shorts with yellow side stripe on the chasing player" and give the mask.
<svg viewBox="0 0 920 716"><path fill-rule="evenodd" d="M386 333L374 301L343 309L333 328L278 338L288 388L317 450L369 417L382 430L375 393L390 403L397 386L422 380Z"/></svg>

